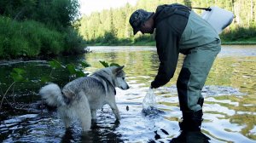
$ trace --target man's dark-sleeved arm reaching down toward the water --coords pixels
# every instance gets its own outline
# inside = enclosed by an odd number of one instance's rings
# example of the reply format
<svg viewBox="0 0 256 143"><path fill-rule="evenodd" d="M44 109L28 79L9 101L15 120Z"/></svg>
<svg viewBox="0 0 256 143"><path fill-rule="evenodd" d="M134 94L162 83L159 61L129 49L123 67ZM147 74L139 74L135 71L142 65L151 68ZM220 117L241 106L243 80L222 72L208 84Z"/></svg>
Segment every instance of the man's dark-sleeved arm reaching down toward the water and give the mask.
<svg viewBox="0 0 256 143"><path fill-rule="evenodd" d="M159 88L165 85L173 77L178 59L179 38L172 27L157 30L155 33L157 54L159 55L160 66L158 73L151 83L151 88Z"/></svg>

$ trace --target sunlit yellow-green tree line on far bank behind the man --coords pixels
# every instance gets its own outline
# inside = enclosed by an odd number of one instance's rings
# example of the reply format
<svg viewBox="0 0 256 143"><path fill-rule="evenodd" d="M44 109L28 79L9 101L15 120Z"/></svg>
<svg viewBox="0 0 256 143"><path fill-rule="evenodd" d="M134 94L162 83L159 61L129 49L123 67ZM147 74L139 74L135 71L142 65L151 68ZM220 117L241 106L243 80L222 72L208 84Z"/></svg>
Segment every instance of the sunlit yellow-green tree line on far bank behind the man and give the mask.
<svg viewBox="0 0 256 143"><path fill-rule="evenodd" d="M218 6L235 14L233 23L221 34L226 42L256 41L256 2L253 0L138 0L136 6L129 3L119 9L108 9L84 15L80 20L79 33L90 44L152 43L153 35L133 36L129 18L136 9L155 11L158 5L182 3L189 7L208 8ZM197 14L203 11L194 9Z"/></svg>

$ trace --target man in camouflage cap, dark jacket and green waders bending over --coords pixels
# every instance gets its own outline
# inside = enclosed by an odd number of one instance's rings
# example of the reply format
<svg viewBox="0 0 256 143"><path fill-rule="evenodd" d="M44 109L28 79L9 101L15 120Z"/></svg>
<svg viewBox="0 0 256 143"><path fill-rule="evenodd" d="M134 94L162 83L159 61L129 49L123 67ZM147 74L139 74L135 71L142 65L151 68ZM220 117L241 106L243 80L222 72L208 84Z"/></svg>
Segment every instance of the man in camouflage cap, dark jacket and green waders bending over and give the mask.
<svg viewBox="0 0 256 143"><path fill-rule="evenodd" d="M184 54L183 66L177 78L177 93L183 121L181 130L200 131L202 122L203 88L216 55L220 38L206 20L181 4L160 5L155 13L136 10L129 20L134 35L137 31L152 34L160 66L151 83L156 89L173 77L178 54Z"/></svg>

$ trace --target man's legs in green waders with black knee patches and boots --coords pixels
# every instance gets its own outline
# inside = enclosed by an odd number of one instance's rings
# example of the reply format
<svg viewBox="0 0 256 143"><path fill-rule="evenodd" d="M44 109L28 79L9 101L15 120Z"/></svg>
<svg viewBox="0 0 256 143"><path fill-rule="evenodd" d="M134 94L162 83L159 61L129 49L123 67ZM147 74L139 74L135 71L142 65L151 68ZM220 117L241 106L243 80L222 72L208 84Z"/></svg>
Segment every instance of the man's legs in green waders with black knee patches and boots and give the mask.
<svg viewBox="0 0 256 143"><path fill-rule="evenodd" d="M203 88L213 61L220 51L220 40L189 49L177 78L177 93L183 112L181 130L200 130L202 121Z"/></svg>

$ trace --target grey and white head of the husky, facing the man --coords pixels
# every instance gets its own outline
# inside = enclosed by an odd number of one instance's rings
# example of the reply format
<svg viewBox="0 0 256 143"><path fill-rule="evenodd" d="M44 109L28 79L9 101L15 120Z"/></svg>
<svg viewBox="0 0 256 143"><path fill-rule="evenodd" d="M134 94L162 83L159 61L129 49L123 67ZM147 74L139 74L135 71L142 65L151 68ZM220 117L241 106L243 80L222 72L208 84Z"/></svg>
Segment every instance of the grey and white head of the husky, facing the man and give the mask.
<svg viewBox="0 0 256 143"><path fill-rule="evenodd" d="M125 81L125 72L123 68L125 66L112 66L113 82L119 89L129 89L129 85Z"/></svg>

